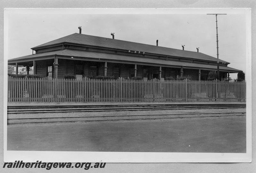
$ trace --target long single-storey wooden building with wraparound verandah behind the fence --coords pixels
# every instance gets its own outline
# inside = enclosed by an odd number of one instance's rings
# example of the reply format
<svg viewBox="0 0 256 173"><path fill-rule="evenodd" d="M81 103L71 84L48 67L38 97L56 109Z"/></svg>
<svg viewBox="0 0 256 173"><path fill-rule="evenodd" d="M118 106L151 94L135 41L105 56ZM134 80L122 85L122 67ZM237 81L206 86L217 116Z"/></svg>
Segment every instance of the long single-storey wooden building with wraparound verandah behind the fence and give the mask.
<svg viewBox="0 0 256 173"><path fill-rule="evenodd" d="M32 54L8 60L8 64L34 67L34 74L53 78L65 75L136 77L144 79L190 75L193 80L206 80L209 71L217 70L217 58L156 45L74 33L32 47ZM219 60L220 77L240 70Z"/></svg>

